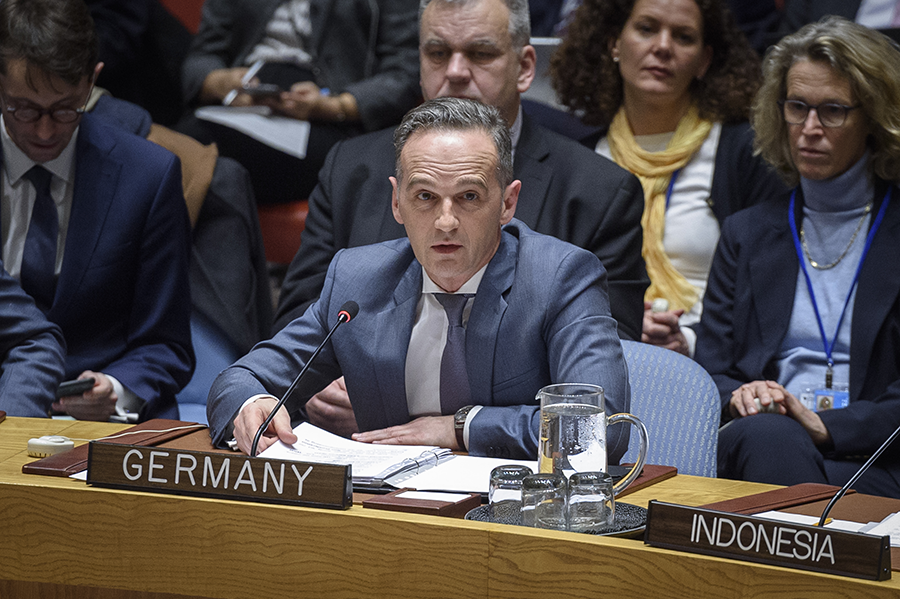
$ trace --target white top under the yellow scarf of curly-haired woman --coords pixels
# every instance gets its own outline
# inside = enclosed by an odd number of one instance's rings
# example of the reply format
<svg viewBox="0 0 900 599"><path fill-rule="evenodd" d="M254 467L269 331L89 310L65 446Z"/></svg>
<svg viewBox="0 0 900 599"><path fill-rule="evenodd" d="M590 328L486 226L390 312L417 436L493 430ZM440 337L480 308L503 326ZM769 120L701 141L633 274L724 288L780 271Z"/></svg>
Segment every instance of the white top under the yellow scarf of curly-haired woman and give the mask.
<svg viewBox="0 0 900 599"><path fill-rule="evenodd" d="M700 322L706 280L719 242L719 221L711 208L711 196L716 151L721 134L722 124L713 123L703 145L675 180L671 202L666 210L663 248L672 261L672 266L699 291L697 303L679 320L683 327ZM644 150L661 152L666 149L673 135L674 132L638 135L635 136L635 141ZM597 143L596 151L612 160L606 137ZM693 355L697 336L689 328L682 328L682 332Z"/></svg>

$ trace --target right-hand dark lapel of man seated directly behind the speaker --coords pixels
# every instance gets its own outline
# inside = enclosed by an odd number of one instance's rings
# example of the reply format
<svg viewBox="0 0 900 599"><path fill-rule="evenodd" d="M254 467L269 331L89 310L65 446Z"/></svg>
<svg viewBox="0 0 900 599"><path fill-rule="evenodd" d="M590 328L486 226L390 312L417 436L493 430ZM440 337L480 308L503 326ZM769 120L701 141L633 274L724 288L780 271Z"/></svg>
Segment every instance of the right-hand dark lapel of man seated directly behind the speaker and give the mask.
<svg viewBox="0 0 900 599"><path fill-rule="evenodd" d="M526 114L522 114L522 133L516 145L516 159L513 163L513 174L522 181L516 218L532 228L541 216L544 198L554 176L553 170L544 164L550 148L539 135L537 127Z"/></svg>

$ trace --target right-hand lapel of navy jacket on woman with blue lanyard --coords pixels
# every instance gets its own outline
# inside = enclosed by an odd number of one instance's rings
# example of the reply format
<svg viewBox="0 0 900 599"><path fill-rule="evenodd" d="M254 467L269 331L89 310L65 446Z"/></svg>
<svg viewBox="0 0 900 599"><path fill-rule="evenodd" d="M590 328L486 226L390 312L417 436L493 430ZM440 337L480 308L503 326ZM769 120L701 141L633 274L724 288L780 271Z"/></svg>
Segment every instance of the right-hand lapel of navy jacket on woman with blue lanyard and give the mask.
<svg viewBox="0 0 900 599"><path fill-rule="evenodd" d="M896 256L900 247L900 193L893 188L893 197L885 212L881 227L872 240L859 275L859 287L853 302L853 322L850 339L850 393L851 401L858 398L866 379L866 370L872 357L872 349L888 310L900 294L900 277L896 276ZM881 207L883 188L876 192L872 220Z"/></svg>

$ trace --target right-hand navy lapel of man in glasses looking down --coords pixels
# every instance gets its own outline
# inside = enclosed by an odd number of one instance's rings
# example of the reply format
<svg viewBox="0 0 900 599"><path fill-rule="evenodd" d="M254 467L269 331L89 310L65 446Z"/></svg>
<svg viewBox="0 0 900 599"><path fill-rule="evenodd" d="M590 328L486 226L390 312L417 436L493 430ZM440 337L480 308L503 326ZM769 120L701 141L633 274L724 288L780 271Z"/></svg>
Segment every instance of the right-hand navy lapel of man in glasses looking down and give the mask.
<svg viewBox="0 0 900 599"><path fill-rule="evenodd" d="M81 123L75 146L75 188L62 269L51 314L65 311L91 262L115 196L122 165L112 160L90 115Z"/></svg>

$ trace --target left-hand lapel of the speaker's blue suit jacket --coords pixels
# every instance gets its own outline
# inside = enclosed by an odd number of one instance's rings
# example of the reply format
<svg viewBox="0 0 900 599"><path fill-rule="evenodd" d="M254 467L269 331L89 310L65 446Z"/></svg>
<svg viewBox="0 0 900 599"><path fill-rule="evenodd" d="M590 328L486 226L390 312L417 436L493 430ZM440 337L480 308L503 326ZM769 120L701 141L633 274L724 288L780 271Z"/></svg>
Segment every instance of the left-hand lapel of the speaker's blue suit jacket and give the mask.
<svg viewBox="0 0 900 599"><path fill-rule="evenodd" d="M375 376L383 400L384 426L409 421L406 354L421 294L422 266L413 260L394 291L394 303L375 315L374 339L378 340Z"/></svg>

